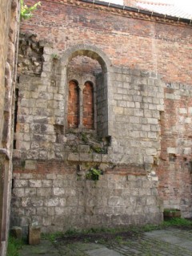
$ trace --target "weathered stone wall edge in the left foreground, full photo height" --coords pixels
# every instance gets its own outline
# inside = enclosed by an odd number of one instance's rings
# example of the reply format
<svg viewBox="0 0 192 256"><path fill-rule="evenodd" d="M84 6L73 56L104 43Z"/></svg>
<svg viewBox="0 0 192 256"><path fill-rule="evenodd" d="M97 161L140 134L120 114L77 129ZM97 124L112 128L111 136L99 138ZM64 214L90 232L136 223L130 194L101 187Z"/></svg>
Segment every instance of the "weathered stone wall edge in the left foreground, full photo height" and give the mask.
<svg viewBox="0 0 192 256"><path fill-rule="evenodd" d="M12 175L13 109L15 56L18 36L18 1L0 4L0 254L6 255L10 218L10 181Z"/></svg>

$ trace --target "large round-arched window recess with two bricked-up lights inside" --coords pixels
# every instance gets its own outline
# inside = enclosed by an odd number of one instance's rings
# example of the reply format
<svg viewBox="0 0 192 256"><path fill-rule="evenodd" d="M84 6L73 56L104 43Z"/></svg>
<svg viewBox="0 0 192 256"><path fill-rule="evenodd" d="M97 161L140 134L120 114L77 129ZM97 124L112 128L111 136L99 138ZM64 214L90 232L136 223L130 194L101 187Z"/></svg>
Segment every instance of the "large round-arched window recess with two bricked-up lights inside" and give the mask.
<svg viewBox="0 0 192 256"><path fill-rule="evenodd" d="M66 50L61 59L62 82L66 101L64 105L66 129L94 130L99 137L109 136L109 101L111 63L97 47L76 45ZM71 81L76 86L71 87ZM78 81L78 83L77 83ZM70 82L70 84L69 84ZM78 84L78 86L77 86ZM76 99L76 100L73 100Z"/></svg>

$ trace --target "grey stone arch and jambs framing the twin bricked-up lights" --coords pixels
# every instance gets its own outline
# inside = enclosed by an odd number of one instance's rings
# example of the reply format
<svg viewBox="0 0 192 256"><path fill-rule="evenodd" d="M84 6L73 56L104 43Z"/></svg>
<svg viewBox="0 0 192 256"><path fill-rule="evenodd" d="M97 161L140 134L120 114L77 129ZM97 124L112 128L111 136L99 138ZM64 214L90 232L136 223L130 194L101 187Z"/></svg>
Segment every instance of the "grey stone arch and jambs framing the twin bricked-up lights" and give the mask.
<svg viewBox="0 0 192 256"><path fill-rule="evenodd" d="M66 52L62 55L61 59L61 67L62 67L62 81L61 86L64 87L63 91L65 91L65 120L66 116L68 115L68 99L69 99L69 82L72 77L68 76L68 65L72 59L78 57L78 56L85 56L90 59L94 59L99 63L101 66L102 72L100 74L96 75L95 80L95 87L94 90L96 91L96 96L94 97L94 107L96 108L94 111L94 124L90 124L92 128L95 129L95 131L98 133L98 136L104 137L109 136L109 110L110 108L110 67L111 63L110 60L107 58L107 56L97 47L89 46L89 45L76 45L74 47L71 47L70 49L66 50ZM81 78L78 74L78 72L74 75L78 77L79 82L79 88L84 89L85 83L87 80L81 81ZM93 81L93 80L90 80ZM82 91L83 91L82 89ZM82 94L83 95L83 94ZM82 96L83 97L83 96ZM80 104L83 106L81 97L80 97ZM97 114L96 114L97 113ZM83 116L80 116L80 120L82 120L82 126L79 125L78 128L85 128L85 120L83 121ZM83 124L84 122L84 124ZM65 124L65 130L67 131L67 128L69 128L67 122Z"/></svg>

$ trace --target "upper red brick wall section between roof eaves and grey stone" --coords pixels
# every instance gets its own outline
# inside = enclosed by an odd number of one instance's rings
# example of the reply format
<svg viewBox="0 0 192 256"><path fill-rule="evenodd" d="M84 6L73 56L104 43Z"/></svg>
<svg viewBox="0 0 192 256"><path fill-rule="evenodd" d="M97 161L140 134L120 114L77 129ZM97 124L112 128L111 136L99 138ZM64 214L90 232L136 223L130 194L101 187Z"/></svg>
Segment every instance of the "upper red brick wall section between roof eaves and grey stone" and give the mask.
<svg viewBox="0 0 192 256"><path fill-rule="evenodd" d="M66 2L42 1L34 18L22 23L22 31L50 39L60 51L78 43L95 45L116 66L155 71L166 81L190 83L191 26L80 1Z"/></svg>

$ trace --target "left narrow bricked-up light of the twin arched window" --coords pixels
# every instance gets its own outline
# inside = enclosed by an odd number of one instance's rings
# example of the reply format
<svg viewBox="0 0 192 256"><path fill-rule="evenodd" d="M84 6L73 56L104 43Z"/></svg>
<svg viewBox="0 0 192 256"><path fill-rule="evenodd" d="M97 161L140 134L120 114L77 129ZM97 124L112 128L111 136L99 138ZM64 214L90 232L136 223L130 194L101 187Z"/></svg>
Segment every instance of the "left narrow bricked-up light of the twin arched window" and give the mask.
<svg viewBox="0 0 192 256"><path fill-rule="evenodd" d="M78 88L78 82L75 80L70 80L70 83L69 83L67 122L68 122L69 128L78 128L79 88Z"/></svg>

